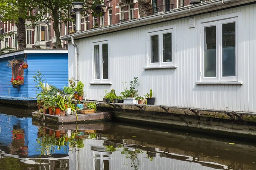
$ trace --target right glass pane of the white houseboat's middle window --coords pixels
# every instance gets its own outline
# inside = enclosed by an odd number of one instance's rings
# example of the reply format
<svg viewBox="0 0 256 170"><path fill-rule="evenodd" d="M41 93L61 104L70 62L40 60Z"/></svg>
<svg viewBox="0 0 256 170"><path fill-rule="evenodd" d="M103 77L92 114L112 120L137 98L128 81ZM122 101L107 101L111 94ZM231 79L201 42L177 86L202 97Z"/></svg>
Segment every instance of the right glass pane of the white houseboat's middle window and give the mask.
<svg viewBox="0 0 256 170"><path fill-rule="evenodd" d="M163 62L172 61L172 33L163 34Z"/></svg>

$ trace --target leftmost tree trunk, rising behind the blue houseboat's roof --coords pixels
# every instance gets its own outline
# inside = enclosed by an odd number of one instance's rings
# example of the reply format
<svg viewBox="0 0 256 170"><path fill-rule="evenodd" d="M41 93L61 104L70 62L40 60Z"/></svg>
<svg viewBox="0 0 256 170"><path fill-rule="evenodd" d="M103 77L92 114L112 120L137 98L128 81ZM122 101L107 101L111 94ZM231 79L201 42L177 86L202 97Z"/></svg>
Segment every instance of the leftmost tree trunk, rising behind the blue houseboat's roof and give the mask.
<svg viewBox="0 0 256 170"><path fill-rule="evenodd" d="M19 17L17 26L17 42L18 42L18 50L26 48L26 26L25 19Z"/></svg>

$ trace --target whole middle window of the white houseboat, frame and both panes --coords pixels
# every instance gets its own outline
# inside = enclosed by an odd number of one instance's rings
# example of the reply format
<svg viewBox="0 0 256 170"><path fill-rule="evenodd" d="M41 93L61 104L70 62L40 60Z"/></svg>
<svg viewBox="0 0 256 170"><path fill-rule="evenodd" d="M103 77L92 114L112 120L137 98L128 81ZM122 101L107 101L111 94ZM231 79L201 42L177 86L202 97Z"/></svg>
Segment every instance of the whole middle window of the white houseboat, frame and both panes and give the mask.
<svg viewBox="0 0 256 170"><path fill-rule="evenodd" d="M166 26L148 31L148 67L174 64L175 27Z"/></svg>

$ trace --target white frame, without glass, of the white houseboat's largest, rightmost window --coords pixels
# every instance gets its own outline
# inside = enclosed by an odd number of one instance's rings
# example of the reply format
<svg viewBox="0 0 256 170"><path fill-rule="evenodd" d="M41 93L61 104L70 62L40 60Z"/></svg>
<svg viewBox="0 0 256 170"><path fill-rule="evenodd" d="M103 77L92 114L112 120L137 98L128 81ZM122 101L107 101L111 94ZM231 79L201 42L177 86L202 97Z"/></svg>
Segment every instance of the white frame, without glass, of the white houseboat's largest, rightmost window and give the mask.
<svg viewBox="0 0 256 170"><path fill-rule="evenodd" d="M238 82L239 81L239 27L241 24L241 13L227 14L218 17L211 17L207 19L198 20L199 42L200 42L200 70L198 75L198 82ZM210 20L209 20L210 19ZM236 76L222 77L222 25L227 23L236 23ZM216 26L216 77L204 77L204 28L209 26Z"/></svg>

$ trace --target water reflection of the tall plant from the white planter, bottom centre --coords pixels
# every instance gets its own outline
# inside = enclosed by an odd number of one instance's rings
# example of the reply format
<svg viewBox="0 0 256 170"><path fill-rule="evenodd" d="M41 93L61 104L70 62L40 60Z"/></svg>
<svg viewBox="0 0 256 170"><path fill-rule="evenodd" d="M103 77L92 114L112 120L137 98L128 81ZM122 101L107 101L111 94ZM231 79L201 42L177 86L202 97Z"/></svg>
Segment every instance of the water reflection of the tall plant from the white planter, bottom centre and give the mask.
<svg viewBox="0 0 256 170"><path fill-rule="evenodd" d="M140 165L140 161L137 156L138 153L143 153L143 150L129 150L129 148L124 147L121 151L121 154L125 154L125 159L131 159L131 167L133 167L134 170L138 170Z"/></svg>

